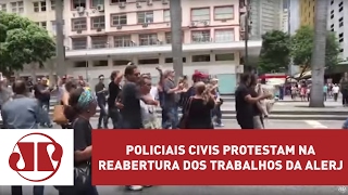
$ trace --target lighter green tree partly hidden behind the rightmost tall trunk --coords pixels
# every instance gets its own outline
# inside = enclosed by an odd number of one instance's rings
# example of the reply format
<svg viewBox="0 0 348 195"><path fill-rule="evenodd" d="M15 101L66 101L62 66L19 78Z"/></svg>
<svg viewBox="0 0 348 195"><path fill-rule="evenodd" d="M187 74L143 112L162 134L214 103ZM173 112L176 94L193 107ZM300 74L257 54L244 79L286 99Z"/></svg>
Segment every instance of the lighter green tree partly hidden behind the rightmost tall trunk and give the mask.
<svg viewBox="0 0 348 195"><path fill-rule="evenodd" d="M323 62L325 67L330 69L338 63L339 43L336 35L327 30L325 31L325 60ZM302 26L290 39L290 55L294 64L302 66L299 78L311 67L313 49L314 29L310 26Z"/></svg>

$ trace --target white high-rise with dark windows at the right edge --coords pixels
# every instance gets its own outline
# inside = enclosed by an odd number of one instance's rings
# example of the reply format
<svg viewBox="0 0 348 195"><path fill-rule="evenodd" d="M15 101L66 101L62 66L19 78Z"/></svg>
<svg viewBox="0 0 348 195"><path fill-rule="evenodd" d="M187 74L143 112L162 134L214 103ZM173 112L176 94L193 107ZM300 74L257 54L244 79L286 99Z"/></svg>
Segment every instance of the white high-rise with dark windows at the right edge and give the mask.
<svg viewBox="0 0 348 195"><path fill-rule="evenodd" d="M327 14L327 27L335 31L340 44L340 58L348 60L348 2L344 0L331 0Z"/></svg>

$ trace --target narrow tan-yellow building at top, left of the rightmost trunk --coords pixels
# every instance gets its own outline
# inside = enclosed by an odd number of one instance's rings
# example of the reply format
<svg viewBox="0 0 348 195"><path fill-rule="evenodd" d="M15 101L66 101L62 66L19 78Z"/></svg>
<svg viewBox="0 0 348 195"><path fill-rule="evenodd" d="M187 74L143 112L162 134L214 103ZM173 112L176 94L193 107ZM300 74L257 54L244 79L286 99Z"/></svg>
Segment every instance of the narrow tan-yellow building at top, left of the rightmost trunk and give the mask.
<svg viewBox="0 0 348 195"><path fill-rule="evenodd" d="M315 0L301 0L301 26L313 26L315 14Z"/></svg>

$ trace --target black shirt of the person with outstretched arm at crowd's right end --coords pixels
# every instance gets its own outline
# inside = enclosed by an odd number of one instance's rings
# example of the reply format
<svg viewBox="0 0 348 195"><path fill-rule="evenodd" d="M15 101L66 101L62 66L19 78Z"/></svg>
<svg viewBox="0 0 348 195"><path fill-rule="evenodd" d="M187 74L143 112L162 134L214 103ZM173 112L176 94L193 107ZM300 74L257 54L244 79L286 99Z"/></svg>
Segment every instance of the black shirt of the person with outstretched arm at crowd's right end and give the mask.
<svg viewBox="0 0 348 195"><path fill-rule="evenodd" d="M237 119L250 119L253 116L252 105L245 100L247 95L250 95L249 89L245 84L239 84L235 95Z"/></svg>

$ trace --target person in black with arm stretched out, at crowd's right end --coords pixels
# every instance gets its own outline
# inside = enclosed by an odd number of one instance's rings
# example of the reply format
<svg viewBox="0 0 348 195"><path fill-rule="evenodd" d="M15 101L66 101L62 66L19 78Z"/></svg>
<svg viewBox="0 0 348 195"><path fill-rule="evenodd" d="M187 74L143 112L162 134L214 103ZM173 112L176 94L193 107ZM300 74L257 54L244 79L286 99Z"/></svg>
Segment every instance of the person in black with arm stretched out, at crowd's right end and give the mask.
<svg viewBox="0 0 348 195"><path fill-rule="evenodd" d="M269 99L272 94L252 98L250 94L251 74L241 76L240 83L235 92L237 121L241 129L254 129L252 106L257 102Z"/></svg>

